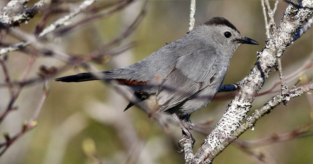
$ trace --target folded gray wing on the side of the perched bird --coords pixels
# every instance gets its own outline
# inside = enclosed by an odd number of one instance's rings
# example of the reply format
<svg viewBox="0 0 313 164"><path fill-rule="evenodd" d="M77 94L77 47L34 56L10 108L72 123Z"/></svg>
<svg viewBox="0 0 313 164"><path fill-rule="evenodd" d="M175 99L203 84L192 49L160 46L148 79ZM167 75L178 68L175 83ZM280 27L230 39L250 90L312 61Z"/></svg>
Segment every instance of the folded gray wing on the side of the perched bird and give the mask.
<svg viewBox="0 0 313 164"><path fill-rule="evenodd" d="M216 58L216 53L209 50L197 50L180 57L156 93L158 112L166 111L192 98L200 90L211 85Z"/></svg>

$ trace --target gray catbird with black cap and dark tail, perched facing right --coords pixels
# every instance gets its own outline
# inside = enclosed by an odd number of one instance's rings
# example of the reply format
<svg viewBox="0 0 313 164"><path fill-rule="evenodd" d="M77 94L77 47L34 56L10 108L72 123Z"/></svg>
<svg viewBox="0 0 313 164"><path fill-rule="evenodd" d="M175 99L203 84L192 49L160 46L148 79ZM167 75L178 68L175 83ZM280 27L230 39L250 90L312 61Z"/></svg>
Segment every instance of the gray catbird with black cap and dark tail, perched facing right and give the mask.
<svg viewBox="0 0 313 164"><path fill-rule="evenodd" d="M117 80L135 90L136 99L125 110L150 100L156 104L150 116L158 112L189 116L216 95L240 44L258 42L242 36L227 19L214 17L138 63L101 72L101 77L81 73L55 81Z"/></svg>

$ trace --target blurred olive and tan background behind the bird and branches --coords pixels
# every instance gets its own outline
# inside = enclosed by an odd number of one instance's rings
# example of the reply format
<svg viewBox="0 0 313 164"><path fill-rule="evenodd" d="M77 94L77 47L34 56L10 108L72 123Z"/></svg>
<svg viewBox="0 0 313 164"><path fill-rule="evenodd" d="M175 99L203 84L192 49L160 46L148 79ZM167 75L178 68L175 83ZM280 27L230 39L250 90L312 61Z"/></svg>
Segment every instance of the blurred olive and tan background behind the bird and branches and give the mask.
<svg viewBox="0 0 313 164"><path fill-rule="evenodd" d="M28 6L37 1L30 1ZM64 10L76 8L82 1L59 2ZM99 1L90 6L95 8L115 1ZM8 1L1 1L3 8ZM271 1L272 7L275 1ZM71 30L64 35L58 35L45 44L71 54L82 56L92 52L123 33L140 13L144 1L135 1L111 14L106 18L95 19ZM275 13L277 24L288 4L280 1ZM113 7L112 7L113 8ZM108 7L104 10L109 11ZM189 27L190 1L148 1L146 15L131 35L122 40L116 47L122 47L134 42L135 45L118 55L106 56L99 61L90 61L98 70L110 70L138 62L148 55L186 34ZM53 13L47 20L47 25L68 14L68 12ZM80 13L69 23L78 22L90 13ZM264 16L260 1L197 1L196 25L208 21L215 16L221 16L233 23L240 33L259 42L260 45L241 45L234 53L223 84L233 84L247 76L257 60L257 52L265 45ZM36 25L42 19L43 13L23 23L18 29L33 34ZM21 39L8 35L6 43L16 43ZM114 47L114 48L116 48ZM113 49L114 49L113 48ZM294 44L290 45L282 57L284 74L288 76L304 65L312 52L312 30L308 30ZM20 80L28 63L30 55L24 51L11 52L8 55L8 73L12 80ZM7 164L37 164L37 163L185 163L184 154L180 151L177 141L181 139L179 126L171 125L166 130L136 106L123 112L127 100L109 85L101 81L82 83L62 83L53 79L86 72L81 66L72 66L53 56L40 55L34 61L28 79L38 77L39 67L55 66L66 69L58 71L48 80L49 96L38 115L38 125L21 136L0 157L0 163ZM311 81L312 68L303 74L300 84ZM279 79L278 72L273 70L266 80L262 91L268 90ZM291 86L297 79L288 82ZM0 82L5 83L3 71L0 71ZM42 96L43 83L27 85L21 91L14 106L18 109L10 112L0 125L0 132L17 134L22 129L23 122L32 118ZM277 86L274 90L279 90ZM252 111L261 108L276 93L258 96L253 103ZM191 115L193 123L208 124L208 133L221 118L227 105L233 99L230 92L219 93L206 108ZM7 87L0 88L0 112L3 113L10 100ZM279 105L265 115L254 127L239 137L240 141L255 141L280 133L293 131L312 120L312 96L304 94L294 98L286 105ZM250 112L249 114L251 114ZM248 114L248 115L249 115ZM198 150L204 134L191 130L196 143L194 153ZM1 143L5 138L0 138ZM262 163L251 152L264 157L264 163L312 163L313 137L297 137L287 141L271 144L254 145L243 149L232 143L214 163ZM249 150L249 151L247 151Z"/></svg>

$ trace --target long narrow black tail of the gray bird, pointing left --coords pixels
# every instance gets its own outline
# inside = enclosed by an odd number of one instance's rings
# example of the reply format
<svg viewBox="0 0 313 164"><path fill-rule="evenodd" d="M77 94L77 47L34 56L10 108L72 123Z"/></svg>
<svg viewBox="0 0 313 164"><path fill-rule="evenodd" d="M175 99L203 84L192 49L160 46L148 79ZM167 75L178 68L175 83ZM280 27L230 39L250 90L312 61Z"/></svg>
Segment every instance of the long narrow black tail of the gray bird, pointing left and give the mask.
<svg viewBox="0 0 313 164"><path fill-rule="evenodd" d="M82 82L82 81L91 81L91 80L100 80L100 79L98 77L95 77L94 74L92 73L81 73L81 74L65 76L65 77L60 77L58 79L54 79L54 81L62 81L62 82Z"/></svg>

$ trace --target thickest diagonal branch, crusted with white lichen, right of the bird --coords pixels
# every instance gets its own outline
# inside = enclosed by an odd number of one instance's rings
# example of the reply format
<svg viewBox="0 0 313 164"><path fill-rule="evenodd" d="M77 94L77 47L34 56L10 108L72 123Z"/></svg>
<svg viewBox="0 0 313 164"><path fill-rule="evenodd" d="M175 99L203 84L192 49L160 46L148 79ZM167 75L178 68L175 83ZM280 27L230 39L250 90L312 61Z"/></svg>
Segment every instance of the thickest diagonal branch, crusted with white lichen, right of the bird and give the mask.
<svg viewBox="0 0 313 164"><path fill-rule="evenodd" d="M303 6L310 6L311 1L302 1ZM284 17L277 28L278 49L281 54L292 42L296 30L303 23L312 11L310 9L296 8L289 5L285 11ZM272 39L266 41L265 48L258 53L258 61L249 74L247 80L239 90L230 105L228 105L221 120L218 121L210 135L204 139L201 148L196 153L194 163L211 163L213 159L223 151L235 138L235 131L241 126L240 122L246 117L251 108L255 96L263 86L269 73L276 65L275 44Z"/></svg>

